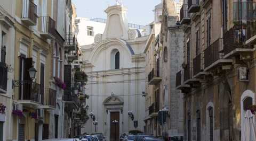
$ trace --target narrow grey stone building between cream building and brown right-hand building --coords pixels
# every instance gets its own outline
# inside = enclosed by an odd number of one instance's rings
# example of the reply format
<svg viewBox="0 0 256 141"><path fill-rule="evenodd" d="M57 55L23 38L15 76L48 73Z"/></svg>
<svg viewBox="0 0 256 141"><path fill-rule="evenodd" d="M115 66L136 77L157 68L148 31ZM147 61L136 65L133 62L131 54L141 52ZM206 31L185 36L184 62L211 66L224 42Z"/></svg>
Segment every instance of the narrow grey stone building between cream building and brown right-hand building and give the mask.
<svg viewBox="0 0 256 141"><path fill-rule="evenodd" d="M163 1L163 19L161 25L160 42L163 48L161 108L168 111L166 128L163 135L177 137L183 136L183 96L175 89L176 72L183 63L183 30L177 24L179 16L176 12L179 4L174 1Z"/></svg>

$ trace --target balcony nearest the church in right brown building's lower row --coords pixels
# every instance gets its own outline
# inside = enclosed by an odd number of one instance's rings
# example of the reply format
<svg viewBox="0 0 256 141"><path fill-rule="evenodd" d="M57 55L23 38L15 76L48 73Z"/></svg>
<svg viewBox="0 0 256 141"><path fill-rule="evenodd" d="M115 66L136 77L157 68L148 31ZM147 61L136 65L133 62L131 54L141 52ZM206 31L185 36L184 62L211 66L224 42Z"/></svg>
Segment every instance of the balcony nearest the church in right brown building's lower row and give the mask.
<svg viewBox="0 0 256 141"><path fill-rule="evenodd" d="M182 76L182 71L176 74L176 89L181 90L181 93L188 93L191 88L189 85L183 84Z"/></svg>

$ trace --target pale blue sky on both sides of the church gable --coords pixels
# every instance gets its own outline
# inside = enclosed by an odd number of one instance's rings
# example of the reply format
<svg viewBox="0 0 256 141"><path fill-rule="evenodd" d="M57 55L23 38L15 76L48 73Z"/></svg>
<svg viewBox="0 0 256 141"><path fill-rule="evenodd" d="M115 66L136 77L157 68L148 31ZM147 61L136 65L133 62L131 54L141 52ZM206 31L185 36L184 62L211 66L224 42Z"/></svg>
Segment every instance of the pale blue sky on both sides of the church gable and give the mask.
<svg viewBox="0 0 256 141"><path fill-rule="evenodd" d="M103 19L107 18L104 12L108 6L114 5L116 0L72 0L76 5L78 17ZM129 23L147 25L154 21L154 7L161 0L123 0L123 5L128 8L127 19Z"/></svg>

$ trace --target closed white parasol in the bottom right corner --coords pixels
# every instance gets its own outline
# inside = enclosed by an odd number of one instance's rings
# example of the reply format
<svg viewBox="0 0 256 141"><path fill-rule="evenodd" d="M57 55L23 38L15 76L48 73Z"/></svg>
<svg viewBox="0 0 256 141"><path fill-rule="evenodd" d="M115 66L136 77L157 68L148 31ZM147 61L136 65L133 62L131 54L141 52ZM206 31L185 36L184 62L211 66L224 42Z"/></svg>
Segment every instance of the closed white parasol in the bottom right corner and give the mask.
<svg viewBox="0 0 256 141"><path fill-rule="evenodd" d="M255 123L253 120L253 114L251 110L247 110L245 113L245 119L244 119L244 127L243 132L244 136L242 138L242 141L255 141L256 140L256 129L255 129Z"/></svg>

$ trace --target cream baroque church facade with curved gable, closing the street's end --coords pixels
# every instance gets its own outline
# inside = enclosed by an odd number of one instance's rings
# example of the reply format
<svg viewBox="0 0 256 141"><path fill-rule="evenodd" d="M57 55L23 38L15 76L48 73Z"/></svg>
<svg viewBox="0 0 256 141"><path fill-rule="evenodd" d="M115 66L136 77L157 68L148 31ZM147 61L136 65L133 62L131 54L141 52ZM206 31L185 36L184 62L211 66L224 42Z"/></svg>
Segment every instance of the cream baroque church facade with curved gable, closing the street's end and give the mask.
<svg viewBox="0 0 256 141"><path fill-rule="evenodd" d="M104 133L115 140L122 133L145 128L145 44L137 29L129 29L123 5L109 6L103 34L94 37L92 45L81 46L83 71L88 75L86 94L90 118L82 133ZM79 34L79 33L78 33ZM81 36L81 35L80 35ZM134 119L128 115L132 111ZM89 113L88 113L89 114ZM114 124L113 121L118 121ZM138 121L138 127L134 127ZM119 135L115 134L119 131Z"/></svg>

